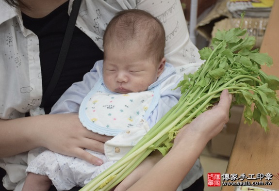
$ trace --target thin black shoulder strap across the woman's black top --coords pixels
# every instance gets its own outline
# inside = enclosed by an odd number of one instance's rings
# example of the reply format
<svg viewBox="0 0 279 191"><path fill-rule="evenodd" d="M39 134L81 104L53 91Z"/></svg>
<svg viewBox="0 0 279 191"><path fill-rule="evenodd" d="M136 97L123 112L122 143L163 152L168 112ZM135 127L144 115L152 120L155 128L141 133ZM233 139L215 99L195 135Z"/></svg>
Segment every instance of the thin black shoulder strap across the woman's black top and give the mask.
<svg viewBox="0 0 279 191"><path fill-rule="evenodd" d="M55 66L55 69L52 74L51 80L49 82L48 88L46 89L46 91L42 97L42 102L40 105L41 108L44 107L46 100L48 100L49 97L51 96L51 94L54 91L54 88L59 80L59 77L61 75L63 66L65 64L67 52L68 52L68 49L69 49L69 46L71 43L72 35L73 35L74 29L75 29L75 24L76 24L76 20L78 17L80 5L81 5L81 0L74 0L73 6L72 6L72 11L70 13L68 25L66 28L66 33L64 36L63 44L62 44L62 47L61 47L61 50L59 53L59 57L57 60L57 64Z"/></svg>

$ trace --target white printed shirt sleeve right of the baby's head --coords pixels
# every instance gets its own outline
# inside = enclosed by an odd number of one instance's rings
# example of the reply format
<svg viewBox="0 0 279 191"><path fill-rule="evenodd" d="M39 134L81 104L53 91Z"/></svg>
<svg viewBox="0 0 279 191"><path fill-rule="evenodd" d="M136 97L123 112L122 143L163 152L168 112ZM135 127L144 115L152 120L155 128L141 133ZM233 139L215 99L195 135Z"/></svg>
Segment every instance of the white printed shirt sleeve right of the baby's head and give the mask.
<svg viewBox="0 0 279 191"><path fill-rule="evenodd" d="M191 42L180 0L137 0L137 9L148 11L163 24L166 33L165 58L178 66L195 67L203 61Z"/></svg>

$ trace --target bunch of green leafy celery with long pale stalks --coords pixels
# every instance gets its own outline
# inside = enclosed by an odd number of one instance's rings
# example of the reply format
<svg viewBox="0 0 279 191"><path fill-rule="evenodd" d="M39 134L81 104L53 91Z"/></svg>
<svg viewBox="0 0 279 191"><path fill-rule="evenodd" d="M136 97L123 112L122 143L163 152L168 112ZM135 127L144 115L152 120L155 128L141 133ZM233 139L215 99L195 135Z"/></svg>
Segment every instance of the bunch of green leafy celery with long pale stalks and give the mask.
<svg viewBox="0 0 279 191"><path fill-rule="evenodd" d="M279 98L275 92L279 89L279 79L261 70L261 65L272 65L272 59L258 49L253 50L254 44L255 38L240 28L216 32L211 48L199 51L205 63L194 74L184 75L178 84L179 102L123 159L85 185L82 191L108 191L153 150L158 149L165 155L177 131L213 106L224 89L234 95L232 105L246 106L245 123L251 124L254 119L268 131L267 116L270 116L271 122L279 126Z"/></svg>

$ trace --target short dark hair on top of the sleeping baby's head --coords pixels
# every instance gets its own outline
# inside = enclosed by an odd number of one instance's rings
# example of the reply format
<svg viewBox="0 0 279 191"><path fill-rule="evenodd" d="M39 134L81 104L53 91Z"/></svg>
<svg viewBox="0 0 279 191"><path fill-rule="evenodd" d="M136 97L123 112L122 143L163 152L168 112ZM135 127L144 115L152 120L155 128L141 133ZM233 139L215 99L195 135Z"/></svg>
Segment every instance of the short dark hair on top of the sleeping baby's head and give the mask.
<svg viewBox="0 0 279 191"><path fill-rule="evenodd" d="M165 32L159 19L146 11L130 9L118 12L109 22L103 37L103 47L113 40L125 46L131 40L143 37L147 56L160 62L164 57Z"/></svg>

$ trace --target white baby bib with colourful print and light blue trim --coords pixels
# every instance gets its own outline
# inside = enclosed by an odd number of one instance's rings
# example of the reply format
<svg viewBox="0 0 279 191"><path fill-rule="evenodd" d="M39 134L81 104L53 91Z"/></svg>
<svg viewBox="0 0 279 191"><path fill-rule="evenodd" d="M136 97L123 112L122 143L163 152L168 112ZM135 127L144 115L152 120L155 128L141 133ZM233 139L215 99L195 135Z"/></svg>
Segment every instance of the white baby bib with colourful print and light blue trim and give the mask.
<svg viewBox="0 0 279 191"><path fill-rule="evenodd" d="M160 98L158 86L139 93L117 94L101 85L83 99L79 117L82 125L93 132L115 136L136 127L147 119Z"/></svg>

